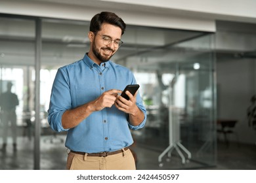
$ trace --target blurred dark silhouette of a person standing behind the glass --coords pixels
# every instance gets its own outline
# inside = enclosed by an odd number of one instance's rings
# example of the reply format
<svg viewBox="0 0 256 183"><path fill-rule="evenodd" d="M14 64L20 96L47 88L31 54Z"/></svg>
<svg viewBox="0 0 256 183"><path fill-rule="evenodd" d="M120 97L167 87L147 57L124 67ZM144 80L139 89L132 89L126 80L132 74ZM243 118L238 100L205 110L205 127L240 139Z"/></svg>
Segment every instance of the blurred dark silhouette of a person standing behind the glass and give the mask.
<svg viewBox="0 0 256 183"><path fill-rule="evenodd" d="M1 123L3 127L3 148L5 152L7 148L7 135L9 131L9 122L11 122L11 135L13 151L16 152L17 135L16 135L16 106L18 105L18 97L15 93L11 92L12 83L7 83L7 92L2 93L0 96L1 107Z"/></svg>

